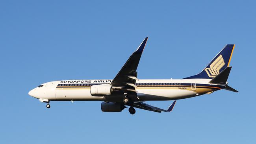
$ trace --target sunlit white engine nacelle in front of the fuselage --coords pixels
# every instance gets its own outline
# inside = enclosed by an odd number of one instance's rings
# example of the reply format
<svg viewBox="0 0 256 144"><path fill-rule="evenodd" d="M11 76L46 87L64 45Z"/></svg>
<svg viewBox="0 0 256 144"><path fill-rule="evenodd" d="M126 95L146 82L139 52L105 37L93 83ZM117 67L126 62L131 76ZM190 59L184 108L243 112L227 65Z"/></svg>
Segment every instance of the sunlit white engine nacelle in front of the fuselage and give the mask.
<svg viewBox="0 0 256 144"><path fill-rule="evenodd" d="M102 84L102 85L92 85L91 86L91 95L92 96L105 96L112 94L113 89L111 85Z"/></svg>

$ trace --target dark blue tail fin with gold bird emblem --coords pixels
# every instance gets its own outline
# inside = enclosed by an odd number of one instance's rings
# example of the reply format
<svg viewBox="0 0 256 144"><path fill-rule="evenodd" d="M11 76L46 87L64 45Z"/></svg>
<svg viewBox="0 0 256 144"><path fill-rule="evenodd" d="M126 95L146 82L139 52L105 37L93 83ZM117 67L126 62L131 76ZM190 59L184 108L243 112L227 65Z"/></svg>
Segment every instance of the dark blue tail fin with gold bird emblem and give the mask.
<svg viewBox="0 0 256 144"><path fill-rule="evenodd" d="M227 44L214 59L195 76L184 79L212 79L229 66L235 44Z"/></svg>

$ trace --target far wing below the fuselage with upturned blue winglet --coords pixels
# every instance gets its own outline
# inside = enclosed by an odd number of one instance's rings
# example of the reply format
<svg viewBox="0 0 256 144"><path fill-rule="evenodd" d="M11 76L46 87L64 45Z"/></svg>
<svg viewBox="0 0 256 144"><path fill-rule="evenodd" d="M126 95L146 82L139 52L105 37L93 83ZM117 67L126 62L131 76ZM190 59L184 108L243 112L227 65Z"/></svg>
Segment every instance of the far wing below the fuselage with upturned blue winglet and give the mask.
<svg viewBox="0 0 256 144"><path fill-rule="evenodd" d="M148 105L147 103L143 103L143 102L133 103L132 106L136 107L136 108L139 108L139 109L145 109L145 110L148 110L148 111L154 111L154 112L161 113L162 111L163 112L170 112L170 111L172 111L175 103L176 103L176 100L170 105L170 107L167 110L160 109L158 107L154 107L152 105Z"/></svg>

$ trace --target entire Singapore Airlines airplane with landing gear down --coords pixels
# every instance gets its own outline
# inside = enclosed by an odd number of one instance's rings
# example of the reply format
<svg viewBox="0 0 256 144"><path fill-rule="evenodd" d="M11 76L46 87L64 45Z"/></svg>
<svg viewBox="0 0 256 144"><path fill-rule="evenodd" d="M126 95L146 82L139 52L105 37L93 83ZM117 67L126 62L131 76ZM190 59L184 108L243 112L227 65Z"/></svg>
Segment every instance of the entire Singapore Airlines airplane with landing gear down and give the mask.
<svg viewBox="0 0 256 144"><path fill-rule="evenodd" d="M128 106L130 114L135 114L134 107L158 113L171 112L176 100L211 94L221 89L238 92L228 86L227 82L232 68L229 64L234 44L224 46L197 75L183 79L138 79L136 70L147 40L148 37L129 57L114 79L51 81L30 90L28 94L47 103L47 108L50 108L50 101L102 101L103 112L121 112ZM160 100L174 102L166 110L145 103Z"/></svg>

